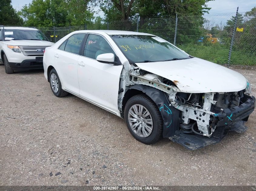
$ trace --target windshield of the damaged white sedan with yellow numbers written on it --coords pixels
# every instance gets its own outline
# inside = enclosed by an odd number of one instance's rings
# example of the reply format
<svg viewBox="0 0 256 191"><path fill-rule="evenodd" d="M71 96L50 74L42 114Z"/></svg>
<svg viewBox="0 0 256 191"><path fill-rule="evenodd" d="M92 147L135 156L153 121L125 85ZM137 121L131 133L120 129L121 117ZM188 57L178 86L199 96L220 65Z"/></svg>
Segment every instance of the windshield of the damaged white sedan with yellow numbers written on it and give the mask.
<svg viewBox="0 0 256 191"><path fill-rule="evenodd" d="M150 35L110 35L131 62L162 62L191 58L159 37Z"/></svg>

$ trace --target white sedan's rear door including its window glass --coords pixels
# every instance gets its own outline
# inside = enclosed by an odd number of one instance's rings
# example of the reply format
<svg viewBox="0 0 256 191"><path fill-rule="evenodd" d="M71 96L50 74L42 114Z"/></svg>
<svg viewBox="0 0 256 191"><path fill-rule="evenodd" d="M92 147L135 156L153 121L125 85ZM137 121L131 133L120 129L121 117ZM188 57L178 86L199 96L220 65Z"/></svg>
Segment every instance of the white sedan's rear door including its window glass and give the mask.
<svg viewBox="0 0 256 191"><path fill-rule="evenodd" d="M79 94L77 76L78 58L85 33L74 34L56 50L55 67L64 88Z"/></svg>

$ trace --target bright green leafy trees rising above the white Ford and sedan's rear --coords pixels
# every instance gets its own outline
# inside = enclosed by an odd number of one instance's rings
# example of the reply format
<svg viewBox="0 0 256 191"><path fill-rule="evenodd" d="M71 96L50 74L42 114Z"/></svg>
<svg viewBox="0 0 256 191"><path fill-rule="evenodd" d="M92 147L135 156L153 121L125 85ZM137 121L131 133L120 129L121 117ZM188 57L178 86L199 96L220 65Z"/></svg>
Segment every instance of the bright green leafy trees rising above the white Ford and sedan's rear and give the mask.
<svg viewBox="0 0 256 191"><path fill-rule="evenodd" d="M89 0L32 0L24 5L19 15L26 26L62 27L91 23L93 11L88 7Z"/></svg>

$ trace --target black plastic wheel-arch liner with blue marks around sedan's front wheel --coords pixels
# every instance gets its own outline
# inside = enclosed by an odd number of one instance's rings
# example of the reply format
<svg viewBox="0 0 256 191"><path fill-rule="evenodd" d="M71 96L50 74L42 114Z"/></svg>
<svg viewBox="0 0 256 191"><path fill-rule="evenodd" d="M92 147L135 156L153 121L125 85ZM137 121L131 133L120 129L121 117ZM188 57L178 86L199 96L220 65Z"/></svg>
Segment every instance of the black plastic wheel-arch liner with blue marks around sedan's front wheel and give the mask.
<svg viewBox="0 0 256 191"><path fill-rule="evenodd" d="M167 95L156 88L146 85L134 85L130 89L136 89L145 93L150 97L159 108L159 111L163 118L163 137L169 138L175 134L175 131L179 130L180 124L180 111L175 107L169 106Z"/></svg>

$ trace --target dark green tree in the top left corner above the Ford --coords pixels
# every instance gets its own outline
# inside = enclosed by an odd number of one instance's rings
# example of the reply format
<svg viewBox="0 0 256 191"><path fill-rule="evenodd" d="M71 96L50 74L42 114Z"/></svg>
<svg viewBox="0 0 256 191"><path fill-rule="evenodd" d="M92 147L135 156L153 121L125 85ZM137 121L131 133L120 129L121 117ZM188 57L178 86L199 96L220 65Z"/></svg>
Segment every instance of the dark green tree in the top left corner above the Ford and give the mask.
<svg viewBox="0 0 256 191"><path fill-rule="evenodd" d="M11 0L0 1L0 24L20 26L23 20L18 16L11 3Z"/></svg>

